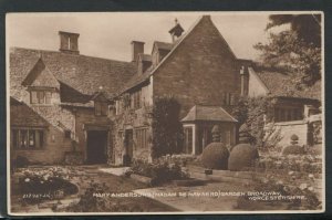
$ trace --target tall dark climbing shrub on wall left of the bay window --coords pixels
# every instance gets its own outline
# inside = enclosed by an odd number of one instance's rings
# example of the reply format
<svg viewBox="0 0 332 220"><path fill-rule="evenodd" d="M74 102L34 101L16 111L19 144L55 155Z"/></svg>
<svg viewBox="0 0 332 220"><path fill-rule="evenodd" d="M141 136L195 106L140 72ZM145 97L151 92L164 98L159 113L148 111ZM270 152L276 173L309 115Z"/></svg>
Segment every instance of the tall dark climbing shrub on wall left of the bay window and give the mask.
<svg viewBox="0 0 332 220"><path fill-rule="evenodd" d="M174 97L158 97L153 107L153 158L178 154L181 149L183 126L180 104Z"/></svg>

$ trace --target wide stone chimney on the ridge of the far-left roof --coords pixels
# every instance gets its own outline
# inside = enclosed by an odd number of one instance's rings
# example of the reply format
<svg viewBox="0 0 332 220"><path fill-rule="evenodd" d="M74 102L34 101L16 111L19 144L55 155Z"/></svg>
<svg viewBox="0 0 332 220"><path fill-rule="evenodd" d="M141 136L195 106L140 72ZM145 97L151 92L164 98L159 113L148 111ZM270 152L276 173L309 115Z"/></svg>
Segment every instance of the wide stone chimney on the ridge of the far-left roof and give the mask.
<svg viewBox="0 0 332 220"><path fill-rule="evenodd" d="M60 51L63 53L80 54L79 51L79 33L59 31Z"/></svg>

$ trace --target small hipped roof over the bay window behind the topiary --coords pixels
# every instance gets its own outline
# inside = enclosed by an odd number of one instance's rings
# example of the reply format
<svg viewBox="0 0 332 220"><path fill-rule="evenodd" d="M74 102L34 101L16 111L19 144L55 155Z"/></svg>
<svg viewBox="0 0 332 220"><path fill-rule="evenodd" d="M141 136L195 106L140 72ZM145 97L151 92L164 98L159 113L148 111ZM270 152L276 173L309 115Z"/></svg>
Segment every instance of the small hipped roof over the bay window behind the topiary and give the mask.
<svg viewBox="0 0 332 220"><path fill-rule="evenodd" d="M230 122L237 123L230 114L220 106L195 105L181 122Z"/></svg>

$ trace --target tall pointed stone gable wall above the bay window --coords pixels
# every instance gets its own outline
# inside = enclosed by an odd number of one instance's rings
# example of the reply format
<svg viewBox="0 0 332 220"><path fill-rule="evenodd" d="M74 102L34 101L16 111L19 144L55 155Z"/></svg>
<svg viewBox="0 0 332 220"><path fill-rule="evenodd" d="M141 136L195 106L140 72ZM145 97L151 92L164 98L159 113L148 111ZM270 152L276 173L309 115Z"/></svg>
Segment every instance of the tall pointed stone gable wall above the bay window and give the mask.
<svg viewBox="0 0 332 220"><path fill-rule="evenodd" d="M225 93L240 94L236 57L209 17L204 17L189 35L153 75L154 97L174 95L184 117L196 104L225 106Z"/></svg>

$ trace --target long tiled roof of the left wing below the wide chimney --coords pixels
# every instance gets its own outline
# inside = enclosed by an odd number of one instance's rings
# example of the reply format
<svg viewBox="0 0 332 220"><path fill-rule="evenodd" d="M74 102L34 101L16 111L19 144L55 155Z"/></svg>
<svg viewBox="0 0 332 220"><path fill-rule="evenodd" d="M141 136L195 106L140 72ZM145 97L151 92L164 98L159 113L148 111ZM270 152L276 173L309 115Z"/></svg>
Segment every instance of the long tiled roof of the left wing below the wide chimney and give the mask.
<svg viewBox="0 0 332 220"><path fill-rule="evenodd" d="M19 90L40 57L60 83L65 83L74 91L86 95L94 94L103 86L107 96L111 96L137 71L137 65L133 62L13 48L10 51L11 92L15 93L15 90Z"/></svg>

